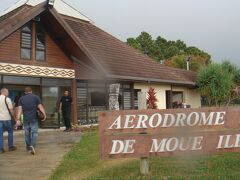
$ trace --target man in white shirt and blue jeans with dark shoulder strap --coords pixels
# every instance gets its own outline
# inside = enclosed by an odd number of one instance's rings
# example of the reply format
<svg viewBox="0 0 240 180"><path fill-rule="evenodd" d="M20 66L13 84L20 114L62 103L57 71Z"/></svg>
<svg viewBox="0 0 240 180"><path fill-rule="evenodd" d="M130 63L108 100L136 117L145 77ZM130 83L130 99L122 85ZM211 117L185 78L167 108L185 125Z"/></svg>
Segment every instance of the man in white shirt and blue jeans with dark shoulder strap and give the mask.
<svg viewBox="0 0 240 180"><path fill-rule="evenodd" d="M2 88L0 95L0 154L4 153L3 132L6 129L8 131L8 150L15 151L17 148L13 146L13 125L12 117L13 105L8 98L8 89Z"/></svg>

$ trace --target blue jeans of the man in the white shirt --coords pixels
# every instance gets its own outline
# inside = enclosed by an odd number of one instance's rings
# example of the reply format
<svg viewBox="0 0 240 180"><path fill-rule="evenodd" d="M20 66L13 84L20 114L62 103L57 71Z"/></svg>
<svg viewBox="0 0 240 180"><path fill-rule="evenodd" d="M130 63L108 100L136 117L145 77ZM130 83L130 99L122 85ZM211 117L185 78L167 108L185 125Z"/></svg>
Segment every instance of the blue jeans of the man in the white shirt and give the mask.
<svg viewBox="0 0 240 180"><path fill-rule="evenodd" d="M8 132L8 148L13 147L13 127L11 120L9 121L0 121L0 151L3 150L3 132L7 130Z"/></svg>

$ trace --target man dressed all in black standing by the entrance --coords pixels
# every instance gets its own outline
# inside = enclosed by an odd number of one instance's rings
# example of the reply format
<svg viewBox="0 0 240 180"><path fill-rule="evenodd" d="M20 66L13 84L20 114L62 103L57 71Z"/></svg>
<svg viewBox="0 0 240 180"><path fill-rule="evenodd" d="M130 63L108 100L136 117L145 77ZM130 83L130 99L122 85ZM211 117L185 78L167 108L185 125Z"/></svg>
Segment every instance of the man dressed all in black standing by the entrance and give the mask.
<svg viewBox="0 0 240 180"><path fill-rule="evenodd" d="M64 92L60 100L59 112L62 113L63 120L66 126L65 131L71 131L71 106L72 106L72 97L69 95L69 91Z"/></svg>

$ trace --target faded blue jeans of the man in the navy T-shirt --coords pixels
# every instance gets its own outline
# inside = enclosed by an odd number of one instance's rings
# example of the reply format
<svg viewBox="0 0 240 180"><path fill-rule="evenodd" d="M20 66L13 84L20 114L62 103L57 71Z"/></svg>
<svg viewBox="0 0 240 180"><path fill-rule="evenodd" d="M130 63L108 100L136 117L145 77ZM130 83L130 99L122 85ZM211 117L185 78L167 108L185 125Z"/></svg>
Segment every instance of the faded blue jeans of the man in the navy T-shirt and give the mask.
<svg viewBox="0 0 240 180"><path fill-rule="evenodd" d="M35 148L38 137L38 121L24 121L23 125L25 130L25 142L27 150L29 150L30 146Z"/></svg>

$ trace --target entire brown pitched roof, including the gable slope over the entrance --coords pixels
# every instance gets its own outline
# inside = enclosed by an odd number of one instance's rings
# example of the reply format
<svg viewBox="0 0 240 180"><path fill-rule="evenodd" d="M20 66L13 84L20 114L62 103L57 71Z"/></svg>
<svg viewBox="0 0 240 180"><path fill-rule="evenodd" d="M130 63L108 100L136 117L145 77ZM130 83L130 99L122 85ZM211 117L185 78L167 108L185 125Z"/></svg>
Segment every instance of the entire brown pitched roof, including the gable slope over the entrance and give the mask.
<svg viewBox="0 0 240 180"><path fill-rule="evenodd" d="M1 17L0 41L44 10L44 3L24 5ZM89 22L60 15L54 9L50 12L107 78L195 85L194 72L161 65Z"/></svg>

